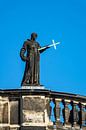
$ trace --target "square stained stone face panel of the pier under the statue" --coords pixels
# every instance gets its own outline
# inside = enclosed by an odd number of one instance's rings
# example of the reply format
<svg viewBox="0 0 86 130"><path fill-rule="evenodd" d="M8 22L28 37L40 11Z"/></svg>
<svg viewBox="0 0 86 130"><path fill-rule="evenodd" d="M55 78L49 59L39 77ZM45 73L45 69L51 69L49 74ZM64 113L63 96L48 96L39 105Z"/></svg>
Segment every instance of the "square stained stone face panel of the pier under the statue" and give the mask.
<svg viewBox="0 0 86 130"><path fill-rule="evenodd" d="M23 123L43 123L45 118L45 97L30 96L23 98Z"/></svg>

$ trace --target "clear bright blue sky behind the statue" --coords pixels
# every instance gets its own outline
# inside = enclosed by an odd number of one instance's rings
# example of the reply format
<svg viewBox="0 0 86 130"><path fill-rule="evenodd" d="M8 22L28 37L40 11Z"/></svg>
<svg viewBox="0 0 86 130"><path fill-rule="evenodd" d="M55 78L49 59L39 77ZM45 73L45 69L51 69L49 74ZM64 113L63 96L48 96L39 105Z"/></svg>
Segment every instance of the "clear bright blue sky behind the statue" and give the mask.
<svg viewBox="0 0 86 130"><path fill-rule="evenodd" d="M32 32L44 46L41 84L86 95L86 0L0 0L0 88L20 88L25 63L19 52Z"/></svg>

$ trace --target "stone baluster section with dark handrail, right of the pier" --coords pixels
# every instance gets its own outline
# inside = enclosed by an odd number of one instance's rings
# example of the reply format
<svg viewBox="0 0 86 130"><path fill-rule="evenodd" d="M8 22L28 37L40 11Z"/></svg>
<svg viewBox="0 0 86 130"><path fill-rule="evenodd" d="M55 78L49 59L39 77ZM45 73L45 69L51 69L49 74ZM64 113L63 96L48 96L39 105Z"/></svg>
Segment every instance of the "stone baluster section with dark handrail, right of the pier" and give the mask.
<svg viewBox="0 0 86 130"><path fill-rule="evenodd" d="M86 129L86 97L76 94L51 92L55 104L55 124L60 127ZM63 120L63 121L62 121Z"/></svg>

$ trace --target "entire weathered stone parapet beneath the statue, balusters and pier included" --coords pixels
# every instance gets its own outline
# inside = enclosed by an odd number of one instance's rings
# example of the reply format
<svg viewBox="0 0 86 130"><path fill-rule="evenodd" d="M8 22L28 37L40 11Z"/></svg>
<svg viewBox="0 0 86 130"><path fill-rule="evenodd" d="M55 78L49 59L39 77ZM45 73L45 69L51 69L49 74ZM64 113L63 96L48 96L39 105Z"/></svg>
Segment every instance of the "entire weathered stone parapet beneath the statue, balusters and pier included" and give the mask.
<svg viewBox="0 0 86 130"><path fill-rule="evenodd" d="M0 130L86 130L86 97L46 89L0 91Z"/></svg>

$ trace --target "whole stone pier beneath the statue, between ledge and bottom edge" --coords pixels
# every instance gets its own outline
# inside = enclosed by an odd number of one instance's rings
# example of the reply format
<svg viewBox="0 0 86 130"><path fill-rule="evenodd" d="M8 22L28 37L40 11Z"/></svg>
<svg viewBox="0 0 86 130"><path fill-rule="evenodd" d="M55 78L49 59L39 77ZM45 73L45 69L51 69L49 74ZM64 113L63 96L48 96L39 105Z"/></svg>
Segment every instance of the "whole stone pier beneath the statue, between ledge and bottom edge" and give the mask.
<svg viewBox="0 0 86 130"><path fill-rule="evenodd" d="M46 126L53 125L47 111L48 99L45 96L22 96L22 130L45 130Z"/></svg>

